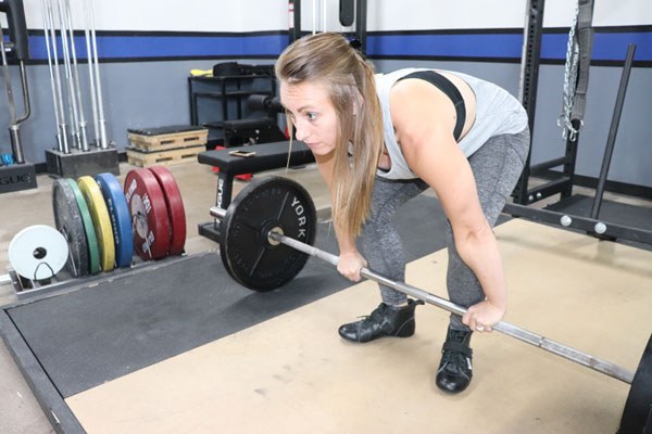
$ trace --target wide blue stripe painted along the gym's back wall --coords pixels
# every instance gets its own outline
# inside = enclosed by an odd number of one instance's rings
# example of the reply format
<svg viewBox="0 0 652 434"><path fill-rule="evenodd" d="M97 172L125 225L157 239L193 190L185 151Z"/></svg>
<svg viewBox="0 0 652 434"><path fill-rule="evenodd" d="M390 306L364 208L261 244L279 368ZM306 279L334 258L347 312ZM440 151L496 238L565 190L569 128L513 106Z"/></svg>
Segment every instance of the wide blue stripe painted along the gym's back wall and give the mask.
<svg viewBox="0 0 652 434"><path fill-rule="evenodd" d="M566 33L548 33L541 41L541 60L563 61L566 56ZM83 36L75 37L78 59L86 59ZM171 60L175 58L276 58L288 43L285 33L273 35L98 35L100 58L111 61ZM637 44L635 61L652 62L652 30L609 31L598 29L593 39L593 61L618 62L625 59L627 46ZM518 60L523 34L496 31L488 34L368 34L369 58L446 58L471 60ZM35 62L47 60L45 38L29 36ZM61 55L61 50L60 50Z"/></svg>

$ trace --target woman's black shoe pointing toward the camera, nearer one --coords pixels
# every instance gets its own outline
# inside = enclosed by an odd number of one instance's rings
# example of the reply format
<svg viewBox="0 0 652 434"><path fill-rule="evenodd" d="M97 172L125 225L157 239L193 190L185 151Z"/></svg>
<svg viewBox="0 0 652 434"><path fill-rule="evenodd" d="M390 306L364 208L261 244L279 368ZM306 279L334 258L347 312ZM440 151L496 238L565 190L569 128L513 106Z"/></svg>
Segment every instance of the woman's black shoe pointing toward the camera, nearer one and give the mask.
<svg viewBox="0 0 652 434"><path fill-rule="evenodd" d="M471 383L473 349L471 331L453 330L449 327L448 336L441 349L441 362L437 371L437 387L448 393L460 393Z"/></svg>

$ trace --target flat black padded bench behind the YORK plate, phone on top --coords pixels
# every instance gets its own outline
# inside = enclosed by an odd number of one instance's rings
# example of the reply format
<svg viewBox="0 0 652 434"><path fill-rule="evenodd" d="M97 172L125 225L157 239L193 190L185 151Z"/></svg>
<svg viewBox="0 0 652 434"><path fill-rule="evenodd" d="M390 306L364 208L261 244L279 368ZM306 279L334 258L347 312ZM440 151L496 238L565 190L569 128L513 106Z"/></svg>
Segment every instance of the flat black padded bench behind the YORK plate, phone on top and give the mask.
<svg viewBox="0 0 652 434"><path fill-rule="evenodd" d="M237 175L255 174L264 170L278 169L288 164L288 141L252 144L248 146L233 146L223 150L205 151L197 155L201 164L217 167L217 195L215 206L226 209L231 202L234 178ZM231 155L233 152L255 152L255 155L244 157ZM301 141L292 141L290 166L300 166L314 163L310 149ZM220 231L216 221L199 224L199 234L213 241L220 241Z"/></svg>

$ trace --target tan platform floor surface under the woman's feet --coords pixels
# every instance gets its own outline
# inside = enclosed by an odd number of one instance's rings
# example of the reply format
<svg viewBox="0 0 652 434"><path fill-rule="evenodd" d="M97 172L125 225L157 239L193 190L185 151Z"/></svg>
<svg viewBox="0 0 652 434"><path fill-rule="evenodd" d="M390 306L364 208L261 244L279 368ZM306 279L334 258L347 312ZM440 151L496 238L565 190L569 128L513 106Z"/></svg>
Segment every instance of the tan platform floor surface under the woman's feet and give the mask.
<svg viewBox="0 0 652 434"><path fill-rule="evenodd" d="M650 336L652 252L514 219L496 230L506 320L636 369ZM446 296L446 250L411 261ZM502 333L476 334L474 380L434 384L448 314L423 306L406 340L355 345L335 330L377 304L362 282L66 399L114 433L615 433L629 385ZM597 314L601 318L595 321ZM640 431L639 431L640 432Z"/></svg>

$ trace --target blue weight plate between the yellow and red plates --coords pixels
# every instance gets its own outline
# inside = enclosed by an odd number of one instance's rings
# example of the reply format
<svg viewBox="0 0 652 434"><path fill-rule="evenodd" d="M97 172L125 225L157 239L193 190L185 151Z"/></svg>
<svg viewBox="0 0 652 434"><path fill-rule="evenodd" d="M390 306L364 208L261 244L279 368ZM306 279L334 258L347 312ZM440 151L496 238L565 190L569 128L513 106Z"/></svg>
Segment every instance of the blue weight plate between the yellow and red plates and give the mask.
<svg viewBox="0 0 652 434"><path fill-rule="evenodd" d="M99 174L96 181L104 197L115 244L115 265L129 267L134 259L134 231L131 216L120 181L113 174Z"/></svg>

